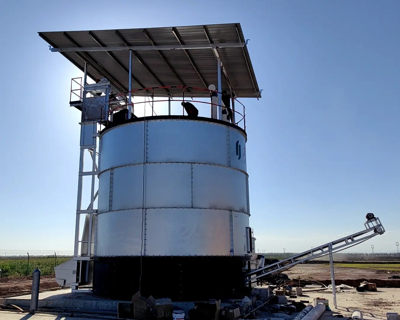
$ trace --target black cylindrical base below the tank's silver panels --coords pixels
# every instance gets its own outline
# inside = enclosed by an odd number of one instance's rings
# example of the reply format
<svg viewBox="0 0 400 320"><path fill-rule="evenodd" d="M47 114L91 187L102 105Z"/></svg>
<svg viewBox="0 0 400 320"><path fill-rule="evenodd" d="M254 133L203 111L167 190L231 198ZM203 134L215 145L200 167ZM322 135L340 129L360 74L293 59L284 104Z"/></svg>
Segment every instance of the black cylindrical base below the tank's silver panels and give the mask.
<svg viewBox="0 0 400 320"><path fill-rule="evenodd" d="M199 301L243 298L244 271L248 257L163 256L95 257L93 295L132 300L142 296Z"/></svg>

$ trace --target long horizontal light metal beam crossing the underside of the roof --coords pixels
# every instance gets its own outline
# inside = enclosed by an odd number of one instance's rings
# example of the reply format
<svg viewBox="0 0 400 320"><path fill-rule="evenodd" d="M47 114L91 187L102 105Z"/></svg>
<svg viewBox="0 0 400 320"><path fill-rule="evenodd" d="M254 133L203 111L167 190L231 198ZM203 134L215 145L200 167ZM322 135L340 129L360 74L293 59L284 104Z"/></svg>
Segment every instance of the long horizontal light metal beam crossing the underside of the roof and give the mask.
<svg viewBox="0 0 400 320"><path fill-rule="evenodd" d="M51 48L52 52L66 51L151 51L151 50L188 50L188 49L213 49L213 48L240 48L244 47L244 42L233 43L214 43L214 44L171 44L168 46L114 46L114 47L78 47L78 48Z"/></svg>

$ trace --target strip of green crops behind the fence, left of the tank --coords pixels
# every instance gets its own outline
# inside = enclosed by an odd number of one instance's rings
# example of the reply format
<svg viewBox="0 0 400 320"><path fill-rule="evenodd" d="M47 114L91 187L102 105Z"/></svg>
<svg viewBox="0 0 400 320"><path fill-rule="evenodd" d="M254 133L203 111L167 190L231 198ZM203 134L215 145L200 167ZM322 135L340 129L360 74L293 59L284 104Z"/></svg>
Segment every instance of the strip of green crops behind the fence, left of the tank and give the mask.
<svg viewBox="0 0 400 320"><path fill-rule="evenodd" d="M54 274L54 267L62 264L71 257L30 257L28 258L0 258L2 277L31 276L33 270L38 267L42 276Z"/></svg>

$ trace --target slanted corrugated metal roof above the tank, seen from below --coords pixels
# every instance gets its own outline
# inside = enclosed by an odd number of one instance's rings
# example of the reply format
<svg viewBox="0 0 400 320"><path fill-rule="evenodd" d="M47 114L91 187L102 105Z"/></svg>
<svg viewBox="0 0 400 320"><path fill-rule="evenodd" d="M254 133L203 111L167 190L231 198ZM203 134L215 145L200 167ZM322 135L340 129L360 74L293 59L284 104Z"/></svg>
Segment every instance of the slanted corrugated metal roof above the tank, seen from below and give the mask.
<svg viewBox="0 0 400 320"><path fill-rule="evenodd" d="M176 30L182 44L208 44L204 29L214 44L245 42L240 24L211 24L181 26L174 28L146 28L94 31L39 32L39 35L54 48L99 47L99 46L156 46L177 45ZM146 36L146 34L148 36ZM101 45L99 44L101 43ZM259 88L246 45L237 48L216 49L221 57L226 75L236 95L242 98L260 97ZM212 49L146 50L134 51L132 55L132 90L159 86L189 86L206 88L217 86L217 63ZM128 91L129 51L60 52L83 71L84 61L89 63L88 75L92 79L108 78L121 92ZM196 72L197 67L198 72ZM200 73L200 75L198 74ZM134 80L133 80L134 79ZM204 82L206 86L204 85ZM226 77L222 73L222 90L229 91ZM208 92L189 89L185 95L209 96ZM182 95L182 89L154 90L155 95Z"/></svg>

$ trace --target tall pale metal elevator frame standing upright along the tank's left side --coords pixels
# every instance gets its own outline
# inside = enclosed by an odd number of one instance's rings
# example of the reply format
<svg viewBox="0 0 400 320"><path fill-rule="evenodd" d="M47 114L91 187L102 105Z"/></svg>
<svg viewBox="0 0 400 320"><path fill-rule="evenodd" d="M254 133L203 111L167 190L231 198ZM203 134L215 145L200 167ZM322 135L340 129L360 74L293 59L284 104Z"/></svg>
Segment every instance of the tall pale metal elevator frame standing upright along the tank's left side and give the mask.
<svg viewBox="0 0 400 320"><path fill-rule="evenodd" d="M85 63L85 77L84 83L86 84L86 68ZM86 91L83 91L83 100ZM76 204L76 223L75 223L75 243L74 243L74 257L71 269L71 288L72 292L92 292L90 288L79 289L79 284L88 282L89 276L89 261L93 260L94 248L92 249L92 223L94 215L97 214L97 209L94 208L94 201L97 198L98 190L94 192L95 180L98 176L98 164L100 164L99 152L100 141L98 142L98 120L85 121L82 117L80 123L80 157L79 157L79 173L78 173L78 195ZM99 148L97 145L99 144ZM88 150L92 160L91 171L84 171L84 155L85 150ZM98 159L96 163L96 159ZM83 177L91 176L90 188L90 204L86 210L82 210L82 194L83 194ZM80 239L80 222L81 215L85 215L84 232ZM85 240L85 231L88 230L87 239ZM86 270L82 270L82 265L86 266Z"/></svg>

